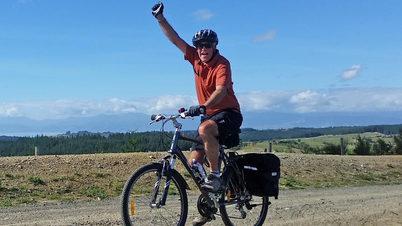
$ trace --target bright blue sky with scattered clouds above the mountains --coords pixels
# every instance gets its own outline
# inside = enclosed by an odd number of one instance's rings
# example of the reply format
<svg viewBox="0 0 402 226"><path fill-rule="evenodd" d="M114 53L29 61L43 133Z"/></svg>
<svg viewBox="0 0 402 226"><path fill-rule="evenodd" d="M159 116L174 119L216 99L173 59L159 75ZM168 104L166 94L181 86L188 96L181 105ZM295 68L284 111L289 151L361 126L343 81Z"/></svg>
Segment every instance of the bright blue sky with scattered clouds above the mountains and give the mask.
<svg viewBox="0 0 402 226"><path fill-rule="evenodd" d="M243 111L402 110L401 1L163 3L188 43L200 29L217 32ZM154 4L1 1L0 117L197 104L191 65L164 37Z"/></svg>

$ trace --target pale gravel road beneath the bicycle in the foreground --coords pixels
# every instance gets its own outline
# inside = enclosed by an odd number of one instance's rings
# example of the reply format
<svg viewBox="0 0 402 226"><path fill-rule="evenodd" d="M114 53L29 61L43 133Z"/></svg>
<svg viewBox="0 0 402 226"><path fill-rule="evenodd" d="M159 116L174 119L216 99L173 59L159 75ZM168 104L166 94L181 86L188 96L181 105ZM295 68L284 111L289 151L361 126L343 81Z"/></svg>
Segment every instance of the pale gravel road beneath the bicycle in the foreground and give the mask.
<svg viewBox="0 0 402 226"><path fill-rule="evenodd" d="M189 200L197 198L189 196ZM402 185L285 190L271 202L264 225L402 225ZM189 205L186 225L191 225L197 214L195 203L189 201ZM80 225L121 225L119 199L0 208L0 226ZM223 222L217 216L206 225Z"/></svg>

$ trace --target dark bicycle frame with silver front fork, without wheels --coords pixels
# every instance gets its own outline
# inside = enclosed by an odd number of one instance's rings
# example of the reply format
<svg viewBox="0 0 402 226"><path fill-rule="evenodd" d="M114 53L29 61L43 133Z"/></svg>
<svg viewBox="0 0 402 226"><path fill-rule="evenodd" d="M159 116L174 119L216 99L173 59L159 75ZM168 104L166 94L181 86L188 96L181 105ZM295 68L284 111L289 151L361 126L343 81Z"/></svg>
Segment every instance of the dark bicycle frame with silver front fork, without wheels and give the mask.
<svg viewBox="0 0 402 226"><path fill-rule="evenodd" d="M201 141L196 140L194 138L190 138L187 136L183 136L180 135L180 129L182 127L181 123L178 123L176 121L176 119L172 119L173 121L173 126L176 128L174 133L173 133L173 138L172 138L172 143L170 144L170 149L168 150L167 155L163 156L161 159L161 162L163 162L163 169L162 169L162 173L161 175L165 175L166 176L166 181L165 181L165 185L164 185L164 191L162 194L162 197L160 198L159 202L156 203L156 195L157 195L157 191L159 189L159 185L160 185L160 179L161 177L159 176L158 179L155 182L155 186L154 186L154 191L153 191L153 198L152 201L150 203L151 207L160 207L162 205L165 205L166 202L166 198L168 195L168 190L169 190L169 185L170 185L170 181L172 179L172 169L174 168L174 162L176 160L176 158L178 158L184 165L184 167L186 168L186 170L189 172L189 175L191 176L191 178L193 179L193 181L195 182L195 184L197 185L198 189L201 191L201 178L198 176L198 174L195 172L195 170L193 168L191 168L189 162L187 161L187 158L184 156L183 152L181 152L181 150L179 150L177 148L177 143L178 140L184 140L184 141L189 141L189 142L193 142L193 143L197 143L197 144L203 144ZM171 161L169 162L169 158L171 158ZM221 170L221 166L222 166L222 160L228 160L228 156L226 155L226 153L224 152L224 148L222 146L219 146L219 162L218 162L218 169L219 172ZM230 182L230 179L232 178L232 175L234 173L236 173L236 175L238 176L238 178L240 179L240 184L244 186L244 181L242 180L242 178L240 177L240 173L238 171L238 169L236 167L234 167L234 165L232 164L232 162L230 161L223 161L224 165L225 165L225 170L222 172L222 178L224 181L224 186L225 188L228 187L228 184ZM244 200L240 200L240 201L229 201L229 202L217 202L215 195L209 195L209 193L207 192L202 192L201 194L203 195L203 197L205 198L205 200L207 201L208 205L211 207L215 207L215 208L219 208L220 205L231 205L231 204L236 204L236 203L245 203L246 201Z"/></svg>

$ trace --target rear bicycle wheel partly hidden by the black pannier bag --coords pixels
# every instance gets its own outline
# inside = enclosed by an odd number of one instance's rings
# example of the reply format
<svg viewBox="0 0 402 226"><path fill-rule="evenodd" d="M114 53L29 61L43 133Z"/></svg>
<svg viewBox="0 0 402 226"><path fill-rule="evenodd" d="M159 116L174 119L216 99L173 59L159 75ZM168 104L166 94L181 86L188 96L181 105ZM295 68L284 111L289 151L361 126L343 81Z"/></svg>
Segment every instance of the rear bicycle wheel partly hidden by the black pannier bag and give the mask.
<svg viewBox="0 0 402 226"><path fill-rule="evenodd" d="M240 185L240 180L236 179L233 175L229 182L229 187L226 192L219 198L219 201L223 202L228 199L228 190L230 190L230 198L232 201L239 199L241 194L244 193L244 189ZM262 226L265 218L267 217L269 197L258 197L252 196L252 201L250 204L259 204L248 210L245 205L241 208L241 205L221 205L219 207L219 212L221 214L222 220L226 226ZM238 209L236 209L238 207ZM242 212L242 211L243 212ZM245 218L242 218L242 214L246 214Z"/></svg>

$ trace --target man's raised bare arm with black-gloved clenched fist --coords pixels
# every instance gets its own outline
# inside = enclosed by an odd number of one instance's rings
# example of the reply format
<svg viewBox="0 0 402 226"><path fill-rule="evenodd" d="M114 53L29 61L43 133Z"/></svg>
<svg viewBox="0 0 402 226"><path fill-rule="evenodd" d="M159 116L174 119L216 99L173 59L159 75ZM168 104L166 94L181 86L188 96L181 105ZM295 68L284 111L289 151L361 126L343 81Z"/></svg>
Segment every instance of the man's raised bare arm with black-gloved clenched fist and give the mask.
<svg viewBox="0 0 402 226"><path fill-rule="evenodd" d="M186 49L189 44L187 44L183 39L181 39L176 31L170 26L168 21L166 21L166 18L163 16L163 4L162 2L158 2L154 7L152 7L152 15L155 16L155 18L159 22L159 26L162 29L163 33L168 37L168 39L176 45L180 51L186 55Z"/></svg>

